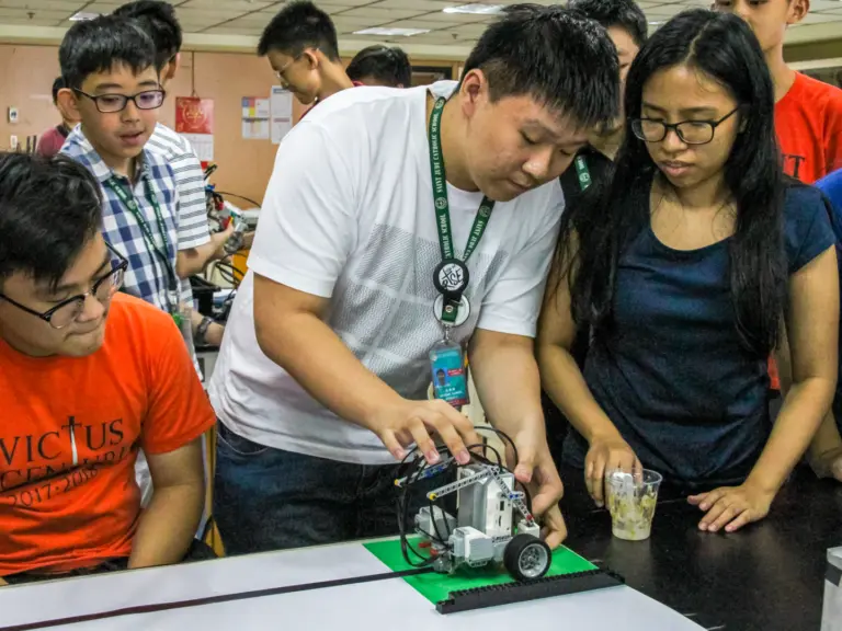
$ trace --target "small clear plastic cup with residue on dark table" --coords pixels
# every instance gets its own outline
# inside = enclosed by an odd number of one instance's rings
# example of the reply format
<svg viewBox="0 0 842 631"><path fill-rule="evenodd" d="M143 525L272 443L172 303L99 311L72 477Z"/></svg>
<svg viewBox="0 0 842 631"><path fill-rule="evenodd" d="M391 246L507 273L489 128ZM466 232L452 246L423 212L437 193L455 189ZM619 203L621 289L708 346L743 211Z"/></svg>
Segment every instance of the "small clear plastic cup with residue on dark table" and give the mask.
<svg viewBox="0 0 842 631"><path fill-rule="evenodd" d="M615 471L606 478L605 491L614 537L626 541L649 538L661 480L663 477L660 473L649 469L644 469L638 479L623 471Z"/></svg>

